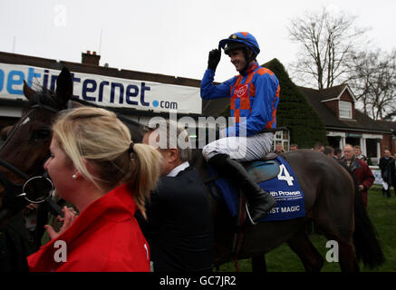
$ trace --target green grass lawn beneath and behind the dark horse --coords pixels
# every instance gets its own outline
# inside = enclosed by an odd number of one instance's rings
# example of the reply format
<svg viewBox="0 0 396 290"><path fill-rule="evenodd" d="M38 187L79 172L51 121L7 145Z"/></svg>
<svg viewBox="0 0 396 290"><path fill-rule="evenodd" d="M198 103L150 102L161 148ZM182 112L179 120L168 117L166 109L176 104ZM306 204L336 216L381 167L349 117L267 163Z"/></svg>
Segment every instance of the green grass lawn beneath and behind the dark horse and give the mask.
<svg viewBox="0 0 396 290"><path fill-rule="evenodd" d="M377 230L386 261L385 264L374 270L364 268L361 263L361 271L396 271L396 231L394 230L396 227L396 197L393 191L391 198L382 197L381 189L379 186L374 186L370 189L367 210L372 224ZM329 248L325 247L327 239L317 234L309 237L314 247L324 257L322 271L340 272L338 263L329 263L325 260L325 254L329 250ZM252 271L250 259L239 260L238 265L241 272ZM275 248L266 255L266 266L269 272L304 272L304 266L298 256L285 244ZM235 272L234 262L220 266L219 271Z"/></svg>

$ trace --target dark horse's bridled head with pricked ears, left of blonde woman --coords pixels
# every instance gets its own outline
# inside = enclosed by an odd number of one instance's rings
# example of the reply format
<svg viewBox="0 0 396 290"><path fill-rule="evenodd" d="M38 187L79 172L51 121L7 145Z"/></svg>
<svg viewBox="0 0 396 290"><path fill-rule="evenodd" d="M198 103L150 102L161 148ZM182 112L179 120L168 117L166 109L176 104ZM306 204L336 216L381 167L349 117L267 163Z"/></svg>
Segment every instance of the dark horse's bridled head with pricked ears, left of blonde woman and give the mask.
<svg viewBox="0 0 396 290"><path fill-rule="evenodd" d="M2 131L5 143L0 148L0 208L5 201L5 190L8 200L10 196L21 193L10 192L15 190L15 185L43 174L43 162L52 139L52 122L72 97L69 70L63 68L58 75L55 92L46 89L35 92L24 82L24 96L28 103L22 117L12 128Z"/></svg>

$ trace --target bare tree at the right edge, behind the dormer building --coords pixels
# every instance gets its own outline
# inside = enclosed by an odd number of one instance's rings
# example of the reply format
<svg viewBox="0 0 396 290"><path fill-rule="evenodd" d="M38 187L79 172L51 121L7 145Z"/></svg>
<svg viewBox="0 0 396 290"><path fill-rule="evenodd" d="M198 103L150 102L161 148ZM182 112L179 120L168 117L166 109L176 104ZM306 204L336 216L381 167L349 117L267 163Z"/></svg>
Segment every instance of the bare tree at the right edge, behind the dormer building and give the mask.
<svg viewBox="0 0 396 290"><path fill-rule="evenodd" d="M391 121L396 116L396 51L355 53L352 60L349 83L364 114Z"/></svg>

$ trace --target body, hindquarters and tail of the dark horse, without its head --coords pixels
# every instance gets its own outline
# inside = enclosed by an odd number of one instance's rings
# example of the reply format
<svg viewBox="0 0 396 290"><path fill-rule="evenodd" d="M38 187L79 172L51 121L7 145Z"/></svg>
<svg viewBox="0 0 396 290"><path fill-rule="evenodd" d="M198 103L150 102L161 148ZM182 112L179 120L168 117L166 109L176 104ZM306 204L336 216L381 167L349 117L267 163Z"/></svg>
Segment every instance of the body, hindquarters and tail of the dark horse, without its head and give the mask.
<svg viewBox="0 0 396 290"><path fill-rule="evenodd" d="M200 152L195 156L196 167L202 177L208 179L208 169ZM360 259L364 266L381 266L384 262L382 248L350 172L317 151L291 151L282 157L295 171L304 191L306 218L246 226L237 258L252 257L255 270L255 262L263 266L264 254L287 243L299 256L306 271L320 271L324 258L314 248L304 227L312 218L327 239L337 242L342 271L358 271L357 260ZM215 207L215 264L221 265L232 258L230 249L236 228L226 220L228 209L224 203L217 203Z"/></svg>

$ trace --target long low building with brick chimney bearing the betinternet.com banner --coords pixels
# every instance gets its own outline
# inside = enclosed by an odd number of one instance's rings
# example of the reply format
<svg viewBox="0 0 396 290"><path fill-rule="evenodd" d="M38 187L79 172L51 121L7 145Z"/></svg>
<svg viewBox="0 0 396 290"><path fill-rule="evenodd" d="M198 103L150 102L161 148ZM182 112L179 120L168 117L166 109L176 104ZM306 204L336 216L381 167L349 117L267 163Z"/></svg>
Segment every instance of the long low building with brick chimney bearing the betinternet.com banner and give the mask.
<svg viewBox="0 0 396 290"><path fill-rule="evenodd" d="M34 89L54 91L57 75L66 66L72 73L73 96L117 111L147 125L153 117L177 118L196 131L202 104L199 80L142 73L100 65L95 52L82 53L82 63L70 63L0 52L0 130L22 115L24 81ZM196 134L192 133L192 136Z"/></svg>

